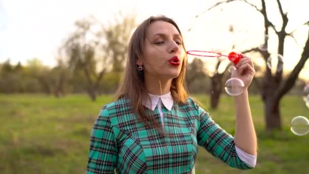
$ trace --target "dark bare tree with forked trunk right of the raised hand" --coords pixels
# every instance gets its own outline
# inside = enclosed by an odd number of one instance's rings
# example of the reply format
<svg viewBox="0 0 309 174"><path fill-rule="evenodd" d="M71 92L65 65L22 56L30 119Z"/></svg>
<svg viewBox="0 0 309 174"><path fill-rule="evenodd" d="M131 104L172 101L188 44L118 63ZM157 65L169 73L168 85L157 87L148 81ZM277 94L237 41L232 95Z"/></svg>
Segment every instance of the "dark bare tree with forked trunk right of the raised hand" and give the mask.
<svg viewBox="0 0 309 174"><path fill-rule="evenodd" d="M254 8L258 13L260 13L264 20L264 35L268 36L269 30L273 30L277 39L278 39L278 45L277 45L277 52L281 55L284 55L284 46L285 46L285 39L287 37L293 37L293 33L297 31L297 28L287 33L287 25L289 22L288 13L284 12L281 1L276 0L277 7L279 8L280 16L282 18L282 25L281 27L274 25L268 18L268 13L265 4L265 0L261 0L261 8L258 8L258 6L251 4L250 2L246 0L227 0L223 2L219 2L217 4L214 4L210 8L208 8L206 11L209 11L215 7L218 7L222 4L227 4L231 2L243 2L250 7ZM205 12L206 12L205 11ZM274 10L271 10L274 11ZM198 16L197 16L198 17ZM309 25L309 20L304 22L303 25ZM280 30L277 30L277 28L280 28ZM294 38L295 39L295 38ZM268 47L268 37L265 37L264 48L267 49L259 49L259 47L252 48L251 50L260 52L260 54L263 56L263 60L265 61L265 66L267 66L267 60L270 56L269 47ZM306 37L306 42L303 47L303 51L301 53L301 57L297 63L297 65L294 67L294 69L287 75L286 78L283 77L283 62L277 61L276 65L276 72L272 73L271 69L266 68L266 71L264 73L264 78L262 81L261 86L261 97L264 102L264 113L265 113L265 121L266 121L266 130L274 130L274 129L282 129L282 122L281 122L281 112L280 112L280 101L282 97L291 90L293 87L298 74L302 70L302 68L305 65L305 62L307 61L309 57L309 32Z"/></svg>

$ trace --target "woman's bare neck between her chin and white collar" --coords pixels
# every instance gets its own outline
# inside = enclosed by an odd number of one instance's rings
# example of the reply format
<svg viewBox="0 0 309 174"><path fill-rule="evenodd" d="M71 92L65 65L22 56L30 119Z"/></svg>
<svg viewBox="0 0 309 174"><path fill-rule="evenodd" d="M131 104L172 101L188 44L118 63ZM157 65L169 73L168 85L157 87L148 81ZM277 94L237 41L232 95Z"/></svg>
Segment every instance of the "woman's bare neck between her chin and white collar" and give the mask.
<svg viewBox="0 0 309 174"><path fill-rule="evenodd" d="M161 83L161 85L160 85ZM164 95L171 90L172 79L160 79L145 76L145 85L149 94L152 95Z"/></svg>

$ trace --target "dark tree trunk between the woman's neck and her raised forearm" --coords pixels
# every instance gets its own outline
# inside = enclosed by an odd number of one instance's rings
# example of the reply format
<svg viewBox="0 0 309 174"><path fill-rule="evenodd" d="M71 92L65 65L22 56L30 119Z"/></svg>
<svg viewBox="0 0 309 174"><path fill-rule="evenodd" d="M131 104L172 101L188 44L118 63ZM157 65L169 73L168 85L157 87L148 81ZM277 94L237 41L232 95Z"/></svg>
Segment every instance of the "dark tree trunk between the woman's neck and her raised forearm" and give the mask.
<svg viewBox="0 0 309 174"><path fill-rule="evenodd" d="M222 92L222 76L223 74L216 73L211 77L210 107L212 109L217 109L219 105Z"/></svg>

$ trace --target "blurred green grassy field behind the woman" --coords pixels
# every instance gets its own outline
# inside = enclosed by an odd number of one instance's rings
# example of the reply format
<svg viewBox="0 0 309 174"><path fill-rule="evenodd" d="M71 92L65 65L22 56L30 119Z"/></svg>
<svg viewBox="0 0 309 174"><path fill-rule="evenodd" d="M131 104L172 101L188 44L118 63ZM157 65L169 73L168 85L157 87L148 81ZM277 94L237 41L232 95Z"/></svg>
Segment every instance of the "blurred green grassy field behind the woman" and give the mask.
<svg viewBox="0 0 309 174"><path fill-rule="evenodd" d="M207 96L194 96L209 106ZM111 96L90 102L85 95L56 99L44 95L0 95L0 173L85 173L91 127ZM258 133L256 168L233 169L200 148L196 173L309 173L309 134L290 131L293 117L309 118L301 97L281 102L284 131L265 133L263 103L250 96ZM207 108L206 108L207 109ZM223 96L218 110L207 109L215 122L233 134L231 97Z"/></svg>

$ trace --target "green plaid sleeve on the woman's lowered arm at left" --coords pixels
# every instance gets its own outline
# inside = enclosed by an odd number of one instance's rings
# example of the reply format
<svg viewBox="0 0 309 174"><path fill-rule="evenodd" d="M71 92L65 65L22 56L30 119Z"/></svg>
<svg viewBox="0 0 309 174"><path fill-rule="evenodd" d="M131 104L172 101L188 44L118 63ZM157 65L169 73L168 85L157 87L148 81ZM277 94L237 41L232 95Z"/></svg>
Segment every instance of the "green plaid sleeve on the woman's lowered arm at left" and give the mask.
<svg viewBox="0 0 309 174"><path fill-rule="evenodd" d="M114 173L117 154L108 110L103 107L90 135L87 173Z"/></svg>

